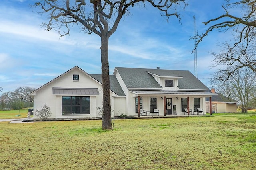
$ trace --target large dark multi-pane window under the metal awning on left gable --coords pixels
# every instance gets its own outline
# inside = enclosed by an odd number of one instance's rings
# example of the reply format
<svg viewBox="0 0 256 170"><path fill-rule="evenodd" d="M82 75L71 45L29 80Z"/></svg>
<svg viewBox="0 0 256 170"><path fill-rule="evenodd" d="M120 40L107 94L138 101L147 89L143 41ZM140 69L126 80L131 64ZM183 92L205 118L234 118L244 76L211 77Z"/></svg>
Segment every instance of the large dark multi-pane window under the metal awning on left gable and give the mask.
<svg viewBox="0 0 256 170"><path fill-rule="evenodd" d="M62 96L62 115L90 114L90 97Z"/></svg>

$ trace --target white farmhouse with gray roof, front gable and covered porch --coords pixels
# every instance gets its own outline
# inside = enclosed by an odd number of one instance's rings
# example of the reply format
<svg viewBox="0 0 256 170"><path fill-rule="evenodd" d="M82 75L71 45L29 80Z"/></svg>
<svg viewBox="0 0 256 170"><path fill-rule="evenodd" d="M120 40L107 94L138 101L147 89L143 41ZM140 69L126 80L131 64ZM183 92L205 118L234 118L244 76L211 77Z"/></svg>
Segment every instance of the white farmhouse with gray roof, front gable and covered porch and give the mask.
<svg viewBox="0 0 256 170"><path fill-rule="evenodd" d="M114 115L193 114L206 110L205 98L214 95L189 71L116 67L110 75L111 108ZM50 119L86 119L101 117L102 79L78 66L68 70L30 94L34 111L50 106ZM140 109L146 110L141 114ZM185 113L185 109L192 112ZM34 119L39 119L34 115Z"/></svg>

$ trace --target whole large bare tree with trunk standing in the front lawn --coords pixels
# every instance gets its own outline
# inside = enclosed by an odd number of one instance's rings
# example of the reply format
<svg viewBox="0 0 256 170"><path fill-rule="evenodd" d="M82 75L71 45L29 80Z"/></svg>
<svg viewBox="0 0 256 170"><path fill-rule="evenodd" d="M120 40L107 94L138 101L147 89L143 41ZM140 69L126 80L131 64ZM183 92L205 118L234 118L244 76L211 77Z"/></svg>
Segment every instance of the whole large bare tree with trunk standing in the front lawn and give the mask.
<svg viewBox="0 0 256 170"><path fill-rule="evenodd" d="M34 7L42 8L49 15L49 21L42 25L47 30L56 29L60 36L70 33L70 25L79 24L83 32L95 33L101 39L101 64L103 88L102 129L112 129L110 107L110 82L108 64L108 39L116 31L121 18L130 14L135 5L152 5L167 17L176 16L177 8L185 8L185 0L38 0Z"/></svg>

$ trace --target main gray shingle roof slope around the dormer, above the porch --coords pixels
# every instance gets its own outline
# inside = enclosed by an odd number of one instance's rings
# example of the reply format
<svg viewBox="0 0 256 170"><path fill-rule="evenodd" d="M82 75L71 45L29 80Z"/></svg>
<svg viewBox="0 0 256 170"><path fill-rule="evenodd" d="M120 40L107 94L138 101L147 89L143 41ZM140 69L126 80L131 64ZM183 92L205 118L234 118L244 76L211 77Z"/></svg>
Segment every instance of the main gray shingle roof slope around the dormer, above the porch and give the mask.
<svg viewBox="0 0 256 170"><path fill-rule="evenodd" d="M162 70L147 68L124 68L116 67L128 88L162 88L150 73L159 76L178 76L179 89L209 90L198 78L189 71Z"/></svg>

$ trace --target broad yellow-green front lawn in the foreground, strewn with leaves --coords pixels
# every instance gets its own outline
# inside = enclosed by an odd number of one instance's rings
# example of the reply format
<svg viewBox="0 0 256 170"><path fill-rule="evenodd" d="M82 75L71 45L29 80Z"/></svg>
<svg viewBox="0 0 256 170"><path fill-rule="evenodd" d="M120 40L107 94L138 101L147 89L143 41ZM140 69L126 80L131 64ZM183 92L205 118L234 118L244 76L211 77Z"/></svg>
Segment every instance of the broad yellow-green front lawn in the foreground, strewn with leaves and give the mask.
<svg viewBox="0 0 256 170"><path fill-rule="evenodd" d="M203 169L256 167L256 116L0 123L0 169Z"/></svg>

